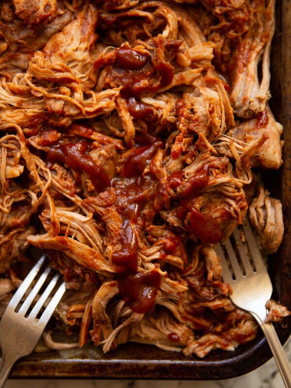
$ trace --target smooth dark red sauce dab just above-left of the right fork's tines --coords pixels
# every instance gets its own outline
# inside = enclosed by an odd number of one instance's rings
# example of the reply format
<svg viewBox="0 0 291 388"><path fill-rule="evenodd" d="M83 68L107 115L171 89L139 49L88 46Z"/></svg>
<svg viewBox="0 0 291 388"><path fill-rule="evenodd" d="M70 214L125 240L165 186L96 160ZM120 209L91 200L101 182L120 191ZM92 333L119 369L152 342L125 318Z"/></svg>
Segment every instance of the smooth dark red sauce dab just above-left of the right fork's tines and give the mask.
<svg viewBox="0 0 291 388"><path fill-rule="evenodd" d="M193 208L189 219L190 231L202 242L219 242L222 239L222 231L212 215L201 213Z"/></svg>

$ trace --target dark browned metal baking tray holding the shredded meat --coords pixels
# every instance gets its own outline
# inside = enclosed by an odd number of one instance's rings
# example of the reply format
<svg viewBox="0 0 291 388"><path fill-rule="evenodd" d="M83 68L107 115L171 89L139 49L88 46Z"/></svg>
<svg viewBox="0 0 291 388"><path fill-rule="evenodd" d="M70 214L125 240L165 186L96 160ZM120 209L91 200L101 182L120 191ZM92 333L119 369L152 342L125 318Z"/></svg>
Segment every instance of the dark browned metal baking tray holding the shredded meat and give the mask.
<svg viewBox="0 0 291 388"><path fill-rule="evenodd" d="M267 172L266 186L281 199L285 235L279 252L270 257L269 268L274 297L291 307L291 10L289 0L277 0L276 31L271 55L271 108L284 126L284 165L279 173ZM272 188L272 190L271 190ZM284 343L291 333L291 318L275 325ZM56 352L32 354L20 360L12 378L147 378L147 379L223 379L250 372L272 356L266 340L240 345L234 352L212 351L204 359L166 352L149 345L129 343L100 359L86 357L62 359Z"/></svg>

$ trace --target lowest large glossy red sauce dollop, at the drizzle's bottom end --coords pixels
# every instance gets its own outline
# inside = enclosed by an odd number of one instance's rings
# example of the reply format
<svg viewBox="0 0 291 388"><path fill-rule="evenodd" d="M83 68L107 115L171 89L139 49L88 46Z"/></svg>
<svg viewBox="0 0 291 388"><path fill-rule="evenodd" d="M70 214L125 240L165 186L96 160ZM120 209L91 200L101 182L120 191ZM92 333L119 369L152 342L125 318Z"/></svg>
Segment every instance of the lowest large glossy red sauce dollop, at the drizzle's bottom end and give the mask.
<svg viewBox="0 0 291 388"><path fill-rule="evenodd" d="M161 285L161 275L158 271L120 274L117 282L122 299L134 312L144 314L154 309L155 296Z"/></svg>

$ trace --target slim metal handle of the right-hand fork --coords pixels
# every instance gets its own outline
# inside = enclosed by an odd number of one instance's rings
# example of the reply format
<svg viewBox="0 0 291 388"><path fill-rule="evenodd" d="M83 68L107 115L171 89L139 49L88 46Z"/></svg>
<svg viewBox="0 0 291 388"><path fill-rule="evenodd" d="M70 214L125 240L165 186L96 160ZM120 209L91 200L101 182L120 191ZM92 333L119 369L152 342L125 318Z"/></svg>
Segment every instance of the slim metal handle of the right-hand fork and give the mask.
<svg viewBox="0 0 291 388"><path fill-rule="evenodd" d="M253 314L259 322L260 327L269 343L270 349L275 358L278 370L281 373L285 387L291 387L291 366L290 362L284 352L283 346L277 336L275 328L272 323L263 323L256 314Z"/></svg>

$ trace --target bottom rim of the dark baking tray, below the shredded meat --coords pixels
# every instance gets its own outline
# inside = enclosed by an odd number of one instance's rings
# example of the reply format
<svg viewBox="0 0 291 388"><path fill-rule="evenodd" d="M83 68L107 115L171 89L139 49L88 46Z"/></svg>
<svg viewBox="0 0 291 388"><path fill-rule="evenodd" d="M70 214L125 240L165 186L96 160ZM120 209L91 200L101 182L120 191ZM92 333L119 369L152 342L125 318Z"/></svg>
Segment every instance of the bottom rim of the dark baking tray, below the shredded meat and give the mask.
<svg viewBox="0 0 291 388"><path fill-rule="evenodd" d="M276 330L281 341L285 341L289 332L286 333L285 330L284 335L282 329L284 332L283 327ZM156 350L154 346L145 346L150 354L152 350ZM257 362L253 360L254 354L258 356ZM272 356L265 338L260 338L246 352L237 356L230 353L232 357L224 360L207 361L190 357L186 361L184 357L182 360L149 360L138 357L129 360L119 355L120 352L115 351L115 356L111 359L99 360L63 360L47 355L36 362L33 356L28 356L16 364L10 378L222 380L251 372Z"/></svg>

